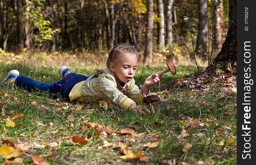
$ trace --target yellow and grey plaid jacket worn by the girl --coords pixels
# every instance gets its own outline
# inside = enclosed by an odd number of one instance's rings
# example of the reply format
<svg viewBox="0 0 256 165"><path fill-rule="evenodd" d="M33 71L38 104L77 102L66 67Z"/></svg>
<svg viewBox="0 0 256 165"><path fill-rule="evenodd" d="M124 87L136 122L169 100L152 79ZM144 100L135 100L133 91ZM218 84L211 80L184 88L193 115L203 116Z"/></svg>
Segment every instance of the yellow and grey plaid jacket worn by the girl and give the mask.
<svg viewBox="0 0 256 165"><path fill-rule="evenodd" d="M109 68L96 69L93 75L83 83L81 96L83 102L93 100L112 102L123 109L128 109L133 103L141 103L144 98L138 86L135 85L134 78L120 92L115 75Z"/></svg>

